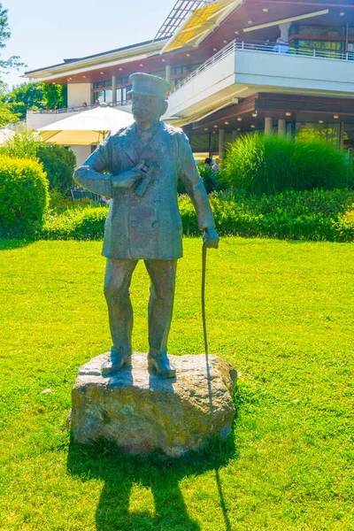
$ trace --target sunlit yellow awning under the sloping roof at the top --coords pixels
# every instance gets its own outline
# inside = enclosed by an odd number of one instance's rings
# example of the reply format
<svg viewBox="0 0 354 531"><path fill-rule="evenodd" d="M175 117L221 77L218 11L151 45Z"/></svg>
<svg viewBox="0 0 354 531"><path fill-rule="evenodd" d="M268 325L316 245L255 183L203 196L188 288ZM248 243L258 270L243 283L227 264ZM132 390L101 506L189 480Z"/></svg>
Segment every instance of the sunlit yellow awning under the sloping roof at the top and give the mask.
<svg viewBox="0 0 354 531"><path fill-rule="evenodd" d="M165 43L160 54L185 46L198 46L239 4L242 0L219 0L196 9Z"/></svg>

